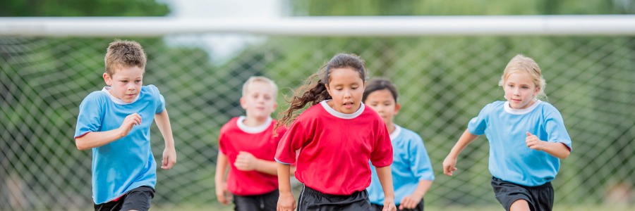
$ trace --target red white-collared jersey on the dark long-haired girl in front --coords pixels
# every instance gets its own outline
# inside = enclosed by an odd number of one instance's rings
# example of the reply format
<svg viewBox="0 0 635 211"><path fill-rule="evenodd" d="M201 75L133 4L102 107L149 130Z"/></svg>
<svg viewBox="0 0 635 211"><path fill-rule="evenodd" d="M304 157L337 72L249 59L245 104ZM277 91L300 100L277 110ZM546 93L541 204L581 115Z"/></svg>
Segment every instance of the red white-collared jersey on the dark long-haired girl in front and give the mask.
<svg viewBox="0 0 635 211"><path fill-rule="evenodd" d="M375 167L392 163L392 144L375 110L362 104L356 113L344 114L322 101L291 124L278 144L276 159L296 162L296 178L310 188L350 195L370 185L368 160Z"/></svg>

